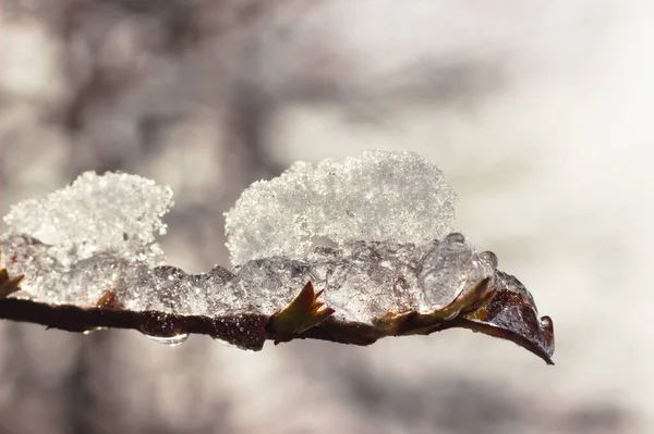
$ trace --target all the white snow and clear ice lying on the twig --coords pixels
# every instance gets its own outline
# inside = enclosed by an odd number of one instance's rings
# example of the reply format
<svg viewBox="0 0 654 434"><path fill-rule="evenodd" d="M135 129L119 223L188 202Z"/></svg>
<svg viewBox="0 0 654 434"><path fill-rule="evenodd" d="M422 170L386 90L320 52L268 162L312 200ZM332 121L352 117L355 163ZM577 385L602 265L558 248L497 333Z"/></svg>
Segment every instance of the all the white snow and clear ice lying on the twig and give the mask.
<svg viewBox="0 0 654 434"><path fill-rule="evenodd" d="M311 281L338 318L371 323L387 312L432 312L496 273L492 253L450 234L456 196L413 153L296 163L255 183L227 218L232 271L164 264L156 236L171 197L138 176L85 173L13 207L0 265L26 277L12 297L94 307L109 290L134 311L269 315Z"/></svg>

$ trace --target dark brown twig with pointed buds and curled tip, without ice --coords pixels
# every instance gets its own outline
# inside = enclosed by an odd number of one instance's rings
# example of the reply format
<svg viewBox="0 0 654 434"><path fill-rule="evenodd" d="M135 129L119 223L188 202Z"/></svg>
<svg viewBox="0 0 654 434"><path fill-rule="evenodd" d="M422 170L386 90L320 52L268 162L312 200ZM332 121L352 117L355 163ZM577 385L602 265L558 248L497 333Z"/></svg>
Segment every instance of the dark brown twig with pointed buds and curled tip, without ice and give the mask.
<svg viewBox="0 0 654 434"><path fill-rule="evenodd" d="M16 281L0 270L0 294L10 293ZM102 328L136 330L154 337L174 337L187 334L209 335L240 348L261 350L266 340L289 342L295 338L322 339L341 344L366 346L386 336L429 335L448 328L469 328L511 340L554 364L554 331L547 317L541 320L528 300L510 290L495 290L485 282L456 299L439 312L423 314L416 311L389 313L372 324L349 322L334 317L334 310L323 308L310 282L295 299L272 315L234 313L220 317L179 315L160 311L122 309L106 294L98 307L48 305L20 298L0 298L0 319L45 325L68 332L88 333ZM472 296L470 296L472 294ZM482 299L486 297L486 299ZM112 302L108 302L112 300ZM467 306L453 319L448 309ZM518 315L520 322L510 321Z"/></svg>

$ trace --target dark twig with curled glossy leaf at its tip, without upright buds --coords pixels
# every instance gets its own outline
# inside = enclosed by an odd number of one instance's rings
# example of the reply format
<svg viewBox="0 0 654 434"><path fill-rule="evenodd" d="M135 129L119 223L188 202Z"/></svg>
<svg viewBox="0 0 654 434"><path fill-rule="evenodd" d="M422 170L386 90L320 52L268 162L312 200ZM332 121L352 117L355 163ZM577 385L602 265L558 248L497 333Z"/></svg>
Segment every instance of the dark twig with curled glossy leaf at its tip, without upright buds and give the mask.
<svg viewBox="0 0 654 434"><path fill-rule="evenodd" d="M516 318L511 319L511 311L522 315L522 325L517 330L508 325L517 321ZM460 327L512 340L553 364L550 320L547 317L538 320L524 300L509 292L496 296L487 307L447 321L410 311L377 319L374 324L331 317L308 328L289 330L277 325L278 318L246 312L221 317L179 315L160 311L49 305L19 298L0 299L0 319L4 320L84 334L106 328L135 330L168 345L180 345L190 334L202 334L227 345L255 351L261 350L267 339L279 343L313 338L365 346L386 336L428 335Z"/></svg>

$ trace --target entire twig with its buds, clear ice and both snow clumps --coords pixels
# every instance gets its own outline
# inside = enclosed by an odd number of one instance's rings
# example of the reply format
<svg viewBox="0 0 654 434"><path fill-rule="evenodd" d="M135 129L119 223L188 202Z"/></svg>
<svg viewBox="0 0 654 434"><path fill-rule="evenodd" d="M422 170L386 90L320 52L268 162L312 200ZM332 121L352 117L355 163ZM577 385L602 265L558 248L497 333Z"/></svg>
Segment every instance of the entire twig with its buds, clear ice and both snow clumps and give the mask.
<svg viewBox="0 0 654 434"><path fill-rule="evenodd" d="M86 173L13 207L0 237L0 318L133 328L168 344L207 334L253 350L266 339L368 345L464 327L552 362L552 321L494 253L452 232L455 194L415 154L301 163L255 183L227 215L232 270L165 264L156 235L171 196L138 176Z"/></svg>

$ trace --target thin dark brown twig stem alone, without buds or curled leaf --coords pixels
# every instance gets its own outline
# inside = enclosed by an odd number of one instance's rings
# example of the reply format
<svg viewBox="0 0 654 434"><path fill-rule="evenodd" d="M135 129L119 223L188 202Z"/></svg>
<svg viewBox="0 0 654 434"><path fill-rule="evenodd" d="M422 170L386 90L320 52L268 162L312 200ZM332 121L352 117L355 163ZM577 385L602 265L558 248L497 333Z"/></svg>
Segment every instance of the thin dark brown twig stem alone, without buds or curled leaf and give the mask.
<svg viewBox="0 0 654 434"><path fill-rule="evenodd" d="M501 298L501 297L500 297ZM493 301L489 303L492 305ZM342 321L330 317L319 324L289 336L274 327L272 317L258 313L237 313L216 318L178 315L158 311L131 311L111 308L83 308L70 305L4 298L0 299L0 319L45 325L68 332L85 333L98 328L135 330L150 336L172 337L180 334L202 334L234 346L261 350L266 340L288 342L312 338L340 344L367 346L386 336L410 334L428 335L448 328L469 328L511 340L554 364L547 351L529 336L500 328L492 322L482 322L461 315L450 321L432 321L426 325L424 315L408 312L395 321L395 327ZM553 338L553 335L552 335Z"/></svg>

